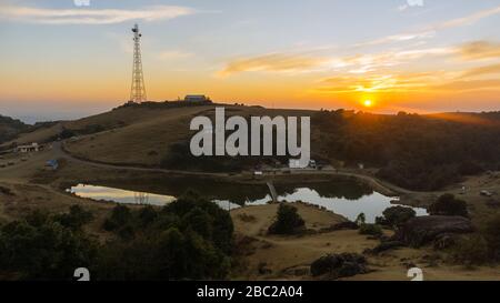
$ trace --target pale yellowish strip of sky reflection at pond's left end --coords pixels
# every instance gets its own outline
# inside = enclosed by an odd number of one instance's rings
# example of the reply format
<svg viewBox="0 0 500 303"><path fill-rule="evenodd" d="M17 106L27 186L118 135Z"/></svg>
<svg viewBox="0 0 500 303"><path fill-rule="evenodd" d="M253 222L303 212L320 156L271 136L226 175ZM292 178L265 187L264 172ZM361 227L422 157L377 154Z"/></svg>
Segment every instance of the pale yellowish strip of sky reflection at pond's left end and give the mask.
<svg viewBox="0 0 500 303"><path fill-rule="evenodd" d="M84 185L84 184L78 184L77 186L72 186L69 191L81 198L113 201L117 203L124 203L124 204L140 204L142 202L143 204L161 206L176 200L176 198L171 195L139 193L120 189ZM141 194L143 199L141 199Z"/></svg>

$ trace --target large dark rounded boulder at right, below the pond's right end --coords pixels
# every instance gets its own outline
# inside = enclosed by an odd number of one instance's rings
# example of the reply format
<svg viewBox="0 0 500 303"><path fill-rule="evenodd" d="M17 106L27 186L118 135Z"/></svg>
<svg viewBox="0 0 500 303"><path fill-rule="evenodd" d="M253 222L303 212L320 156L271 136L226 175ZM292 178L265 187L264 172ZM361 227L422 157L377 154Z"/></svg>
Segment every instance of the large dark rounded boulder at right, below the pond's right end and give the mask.
<svg viewBox="0 0 500 303"><path fill-rule="evenodd" d="M463 216L428 215L409 220L396 232L393 240L411 246L421 246L442 234L473 232L472 223Z"/></svg>

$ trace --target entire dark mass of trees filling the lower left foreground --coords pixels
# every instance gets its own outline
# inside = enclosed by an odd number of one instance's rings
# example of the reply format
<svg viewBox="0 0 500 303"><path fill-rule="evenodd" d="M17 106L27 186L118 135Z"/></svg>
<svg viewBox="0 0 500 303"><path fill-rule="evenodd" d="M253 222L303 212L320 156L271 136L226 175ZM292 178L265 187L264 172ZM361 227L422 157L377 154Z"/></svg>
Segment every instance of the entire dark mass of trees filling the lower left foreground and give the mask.
<svg viewBox="0 0 500 303"><path fill-rule="evenodd" d="M194 193L162 208L117 205L102 242L84 231L92 214L34 212L0 228L2 280L71 280L88 267L92 280L223 279L230 270L229 213Z"/></svg>

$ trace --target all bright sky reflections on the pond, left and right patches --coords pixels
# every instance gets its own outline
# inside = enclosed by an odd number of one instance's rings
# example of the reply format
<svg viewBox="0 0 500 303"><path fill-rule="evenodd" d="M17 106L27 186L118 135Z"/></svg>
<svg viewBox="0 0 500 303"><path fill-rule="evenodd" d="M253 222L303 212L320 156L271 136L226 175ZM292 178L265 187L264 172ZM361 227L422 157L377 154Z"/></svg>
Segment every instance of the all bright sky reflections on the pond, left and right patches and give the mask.
<svg viewBox="0 0 500 303"><path fill-rule="evenodd" d="M106 200L127 204L140 203L140 200L138 200L138 192L133 191L106 186L83 185L83 184L72 186L69 191L78 196L89 198L93 200ZM176 198L172 195L160 195L148 193L147 196L148 199L146 201L142 201L143 204L166 205L176 200ZM271 200L272 200L271 195L268 194L263 199L247 200L246 204L261 205L268 203ZM378 192L363 195L358 200L348 200L346 198L321 196L317 191L311 190L309 188L297 188L294 192L291 194L279 195L278 200L289 202L302 201L314 205L324 206L327 210L341 214L351 221L356 220L358 214L364 213L368 223L373 223L376 216L381 216L382 212L386 209L398 205L391 203L391 201L394 201L397 199L386 196ZM217 203L220 208L224 210L232 210L240 208L240 205L232 203L230 200L214 199L212 200L212 202ZM413 210L417 212L417 215L428 214L426 209L413 208Z"/></svg>

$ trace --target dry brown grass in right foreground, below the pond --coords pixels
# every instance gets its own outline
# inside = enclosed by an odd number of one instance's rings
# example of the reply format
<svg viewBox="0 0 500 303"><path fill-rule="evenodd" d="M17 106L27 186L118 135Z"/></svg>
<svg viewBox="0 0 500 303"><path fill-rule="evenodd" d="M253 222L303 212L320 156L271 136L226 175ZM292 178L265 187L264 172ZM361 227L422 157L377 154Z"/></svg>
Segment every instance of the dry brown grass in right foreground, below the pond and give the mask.
<svg viewBox="0 0 500 303"><path fill-rule="evenodd" d="M309 205L293 204L304 219L309 229L321 229L341 222L340 215ZM310 264L328 253L363 253L373 249L379 241L369 240L358 231L334 231L306 234L302 236L267 235L277 211L276 204L250 206L233 210L237 242L241 244L236 279L240 280L311 280L308 270ZM242 220L241 216L254 216L256 221ZM390 234L389 231L386 231ZM359 281L409 281L408 269L422 269L424 280L500 280L498 267L464 269L446 263L441 253L430 248L399 249L368 255L372 272L356 275L347 280Z"/></svg>

